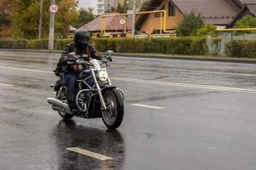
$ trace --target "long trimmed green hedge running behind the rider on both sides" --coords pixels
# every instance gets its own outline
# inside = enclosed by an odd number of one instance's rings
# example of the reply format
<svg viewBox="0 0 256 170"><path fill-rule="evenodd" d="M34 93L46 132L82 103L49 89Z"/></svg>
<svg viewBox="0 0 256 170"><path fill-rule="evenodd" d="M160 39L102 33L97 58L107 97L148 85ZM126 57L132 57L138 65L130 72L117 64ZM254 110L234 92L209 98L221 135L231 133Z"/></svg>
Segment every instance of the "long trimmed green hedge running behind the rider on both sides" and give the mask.
<svg viewBox="0 0 256 170"><path fill-rule="evenodd" d="M55 40L55 49L63 49L73 42L73 39ZM132 38L99 38L96 39L96 49L104 52L112 49L116 53L152 53L152 54L207 54L207 42L205 37L177 37L132 39ZM48 40L1 40L0 48L27 48L47 49Z"/></svg>

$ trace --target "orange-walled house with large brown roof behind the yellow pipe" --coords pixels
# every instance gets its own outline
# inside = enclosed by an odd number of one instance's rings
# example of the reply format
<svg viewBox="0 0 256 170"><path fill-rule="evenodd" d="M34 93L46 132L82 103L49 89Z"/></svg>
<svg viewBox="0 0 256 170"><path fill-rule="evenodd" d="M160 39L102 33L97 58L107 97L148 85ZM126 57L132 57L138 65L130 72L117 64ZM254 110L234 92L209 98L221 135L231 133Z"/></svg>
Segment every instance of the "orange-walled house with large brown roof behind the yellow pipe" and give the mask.
<svg viewBox="0 0 256 170"><path fill-rule="evenodd" d="M207 24L224 28L230 25L243 4L250 1L255 2L255 0L151 0L148 8L143 10L166 10L166 30L174 30L183 20L183 15L193 10L200 13ZM136 28L146 33L159 31L159 14L141 14L137 19Z"/></svg>

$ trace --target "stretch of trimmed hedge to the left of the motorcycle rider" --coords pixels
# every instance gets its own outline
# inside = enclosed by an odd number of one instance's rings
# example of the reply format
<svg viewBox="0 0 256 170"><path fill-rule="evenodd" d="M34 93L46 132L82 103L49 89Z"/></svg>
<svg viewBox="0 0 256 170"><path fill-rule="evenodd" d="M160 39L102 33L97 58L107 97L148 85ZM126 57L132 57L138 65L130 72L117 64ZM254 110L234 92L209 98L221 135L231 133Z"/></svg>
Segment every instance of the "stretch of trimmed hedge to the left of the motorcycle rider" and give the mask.
<svg viewBox="0 0 256 170"><path fill-rule="evenodd" d="M55 40L55 49L62 50L64 46L73 42L73 39L57 39ZM48 40L3 40L0 39L0 48L13 48L13 49L48 49Z"/></svg>

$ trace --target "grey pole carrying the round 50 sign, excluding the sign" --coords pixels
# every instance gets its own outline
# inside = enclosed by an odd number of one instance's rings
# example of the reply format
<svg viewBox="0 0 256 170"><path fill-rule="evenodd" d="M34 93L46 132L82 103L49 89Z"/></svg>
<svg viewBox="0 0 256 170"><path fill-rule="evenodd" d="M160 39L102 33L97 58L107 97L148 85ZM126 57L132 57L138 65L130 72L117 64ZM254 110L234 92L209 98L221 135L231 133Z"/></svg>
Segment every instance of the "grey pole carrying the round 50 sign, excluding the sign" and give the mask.
<svg viewBox="0 0 256 170"><path fill-rule="evenodd" d="M55 0L51 0L50 4L55 4ZM49 16L49 51L54 50L54 40L55 40L55 14L50 13Z"/></svg>

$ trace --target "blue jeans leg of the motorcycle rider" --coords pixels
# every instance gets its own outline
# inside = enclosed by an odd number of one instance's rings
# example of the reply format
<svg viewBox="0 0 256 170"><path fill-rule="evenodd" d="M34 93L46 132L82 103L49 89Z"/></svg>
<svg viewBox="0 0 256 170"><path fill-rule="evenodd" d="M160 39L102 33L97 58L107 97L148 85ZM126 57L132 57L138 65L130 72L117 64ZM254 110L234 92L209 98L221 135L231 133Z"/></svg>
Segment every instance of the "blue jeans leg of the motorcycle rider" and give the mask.
<svg viewBox="0 0 256 170"><path fill-rule="evenodd" d="M78 75L72 73L65 74L65 82L67 82L67 105L70 111L73 111L76 105L76 95L78 94Z"/></svg>

